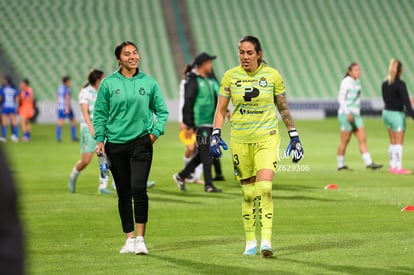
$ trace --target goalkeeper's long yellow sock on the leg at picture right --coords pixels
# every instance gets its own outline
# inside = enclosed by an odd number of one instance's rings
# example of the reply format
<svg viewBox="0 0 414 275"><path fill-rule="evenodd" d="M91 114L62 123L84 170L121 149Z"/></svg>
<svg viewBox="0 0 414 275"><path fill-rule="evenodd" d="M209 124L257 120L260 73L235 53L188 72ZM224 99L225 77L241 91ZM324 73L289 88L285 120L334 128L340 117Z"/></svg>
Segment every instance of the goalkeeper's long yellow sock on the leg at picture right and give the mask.
<svg viewBox="0 0 414 275"><path fill-rule="evenodd" d="M272 241L272 224L273 224L273 200L272 200L272 182L259 181L256 183L258 193L261 196L259 205L260 225L262 227L262 242Z"/></svg>

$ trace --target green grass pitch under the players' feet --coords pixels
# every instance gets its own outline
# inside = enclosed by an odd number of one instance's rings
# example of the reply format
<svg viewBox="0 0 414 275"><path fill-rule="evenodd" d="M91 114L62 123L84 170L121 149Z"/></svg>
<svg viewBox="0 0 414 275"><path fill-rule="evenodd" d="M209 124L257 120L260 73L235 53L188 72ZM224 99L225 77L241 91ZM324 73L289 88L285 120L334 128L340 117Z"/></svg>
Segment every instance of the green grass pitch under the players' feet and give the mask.
<svg viewBox="0 0 414 275"><path fill-rule="evenodd" d="M245 257L241 190L224 153L222 194L200 185L178 190L171 175L182 168L178 124L155 144L146 242L150 255L120 255L124 243L115 195L99 195L95 159L67 189L78 143L54 139L54 125L34 125L33 141L5 145L18 181L30 274L413 274L414 176L389 175L388 137L379 118L365 119L368 146L381 171L365 169L356 140L346 156L353 172L336 171L335 119L297 121L305 158L283 160L274 185L276 257ZM414 127L407 120L404 167L414 169ZM282 147L288 142L280 125ZM228 140L228 124L223 130ZM282 169L283 168L283 169ZM298 170L304 171L284 171ZM335 183L337 190L324 190Z"/></svg>

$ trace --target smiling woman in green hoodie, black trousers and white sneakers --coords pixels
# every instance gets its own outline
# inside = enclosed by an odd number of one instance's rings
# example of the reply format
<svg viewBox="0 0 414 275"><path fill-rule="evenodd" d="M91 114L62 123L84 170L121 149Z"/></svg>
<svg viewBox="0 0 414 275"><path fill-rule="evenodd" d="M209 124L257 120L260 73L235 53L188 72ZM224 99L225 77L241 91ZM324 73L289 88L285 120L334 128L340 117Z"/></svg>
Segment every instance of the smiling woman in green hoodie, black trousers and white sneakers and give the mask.
<svg viewBox="0 0 414 275"><path fill-rule="evenodd" d="M148 254L144 242L147 180L152 144L164 134L168 110L158 83L139 70L138 47L126 41L117 45L114 53L119 70L102 80L95 103L96 153L106 153L111 163L127 238L120 253Z"/></svg>

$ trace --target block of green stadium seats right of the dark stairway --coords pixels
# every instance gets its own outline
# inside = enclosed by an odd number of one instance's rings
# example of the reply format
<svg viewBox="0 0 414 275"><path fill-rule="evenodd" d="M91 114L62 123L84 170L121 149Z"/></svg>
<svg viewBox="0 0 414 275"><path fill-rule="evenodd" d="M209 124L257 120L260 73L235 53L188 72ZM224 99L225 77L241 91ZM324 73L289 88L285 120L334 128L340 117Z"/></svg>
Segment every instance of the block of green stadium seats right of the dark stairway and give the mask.
<svg viewBox="0 0 414 275"><path fill-rule="evenodd" d="M364 98L381 97L389 60L407 66L412 54L410 0L187 0L199 51L218 55L216 72L238 64L237 41L255 35L264 59L285 79L288 97L335 99L347 66L362 68ZM405 76L414 89L414 78Z"/></svg>

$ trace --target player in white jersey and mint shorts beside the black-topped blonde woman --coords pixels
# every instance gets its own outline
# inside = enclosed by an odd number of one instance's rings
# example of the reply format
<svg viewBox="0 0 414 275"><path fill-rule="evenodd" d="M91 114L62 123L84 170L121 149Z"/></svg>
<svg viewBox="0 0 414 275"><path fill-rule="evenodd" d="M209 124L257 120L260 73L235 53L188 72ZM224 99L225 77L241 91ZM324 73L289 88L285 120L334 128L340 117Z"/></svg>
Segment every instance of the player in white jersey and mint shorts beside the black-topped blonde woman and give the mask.
<svg viewBox="0 0 414 275"><path fill-rule="evenodd" d="M345 152L352 133L355 134L359 143L359 150L362 159L368 169L379 169L381 164L375 164L368 152L367 138L365 135L364 122L361 113L361 69L358 63L351 63L348 66L345 78L339 87L338 95L338 120L341 129L341 141L338 146L337 163L338 171L352 170L345 165Z"/></svg>

